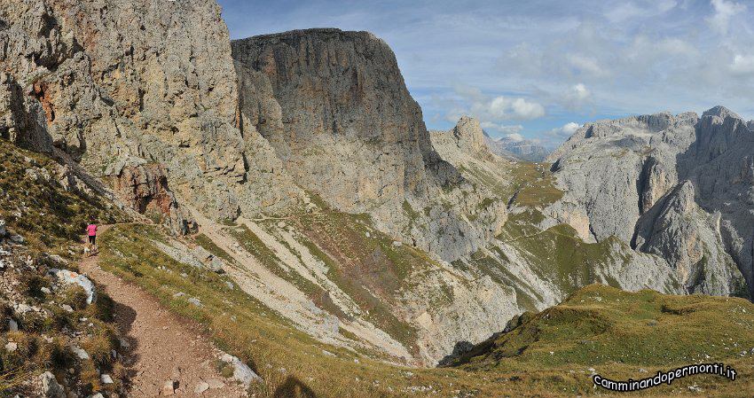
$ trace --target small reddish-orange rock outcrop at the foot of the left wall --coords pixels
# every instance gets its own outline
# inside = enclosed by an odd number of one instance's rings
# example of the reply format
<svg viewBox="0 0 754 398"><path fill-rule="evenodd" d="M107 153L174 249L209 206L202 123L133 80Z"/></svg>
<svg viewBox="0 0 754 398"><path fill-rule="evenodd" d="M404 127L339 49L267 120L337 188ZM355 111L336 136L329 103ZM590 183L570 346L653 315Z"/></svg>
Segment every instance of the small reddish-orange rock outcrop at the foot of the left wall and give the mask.
<svg viewBox="0 0 754 398"><path fill-rule="evenodd" d="M113 185L113 191L139 214L156 218L178 235L197 230L185 210L181 209L176 196L168 187L168 176L159 163L128 158L114 162L105 170Z"/></svg>

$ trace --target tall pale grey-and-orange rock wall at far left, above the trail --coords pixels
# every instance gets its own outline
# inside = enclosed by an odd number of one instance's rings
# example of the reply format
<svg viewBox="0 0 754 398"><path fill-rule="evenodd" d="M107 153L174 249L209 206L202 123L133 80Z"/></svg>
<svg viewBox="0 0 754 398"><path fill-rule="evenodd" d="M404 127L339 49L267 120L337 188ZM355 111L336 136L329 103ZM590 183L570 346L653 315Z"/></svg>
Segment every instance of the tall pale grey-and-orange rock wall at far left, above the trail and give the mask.
<svg viewBox="0 0 754 398"><path fill-rule="evenodd" d="M155 160L202 209L238 211L227 186L245 178L244 141L215 2L11 0L0 22L4 136L49 149L43 135L92 168Z"/></svg>

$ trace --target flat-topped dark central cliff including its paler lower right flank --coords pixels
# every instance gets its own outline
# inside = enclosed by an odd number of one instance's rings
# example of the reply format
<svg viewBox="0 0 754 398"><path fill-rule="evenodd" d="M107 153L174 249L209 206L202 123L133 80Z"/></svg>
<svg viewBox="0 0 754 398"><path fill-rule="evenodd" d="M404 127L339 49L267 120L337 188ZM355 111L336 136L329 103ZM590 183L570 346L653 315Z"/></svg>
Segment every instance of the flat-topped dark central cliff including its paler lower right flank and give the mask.
<svg viewBox="0 0 754 398"><path fill-rule="evenodd" d="M310 29L232 49L241 114L302 188L339 210L369 213L382 230L447 260L494 235L499 204L485 206L480 222L463 216L483 195L469 195L474 188L433 149L386 43Z"/></svg>

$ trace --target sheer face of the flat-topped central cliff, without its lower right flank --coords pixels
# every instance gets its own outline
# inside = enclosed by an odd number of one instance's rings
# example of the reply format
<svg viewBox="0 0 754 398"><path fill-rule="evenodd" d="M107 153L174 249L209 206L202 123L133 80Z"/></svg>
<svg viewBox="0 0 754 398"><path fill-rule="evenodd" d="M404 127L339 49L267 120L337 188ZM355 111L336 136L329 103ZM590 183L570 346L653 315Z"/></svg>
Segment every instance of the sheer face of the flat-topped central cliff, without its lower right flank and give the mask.
<svg viewBox="0 0 754 398"><path fill-rule="evenodd" d="M386 43L366 32L312 29L232 48L270 82L282 120L257 115L259 131L306 189L349 212L428 194L427 173L440 160Z"/></svg>

